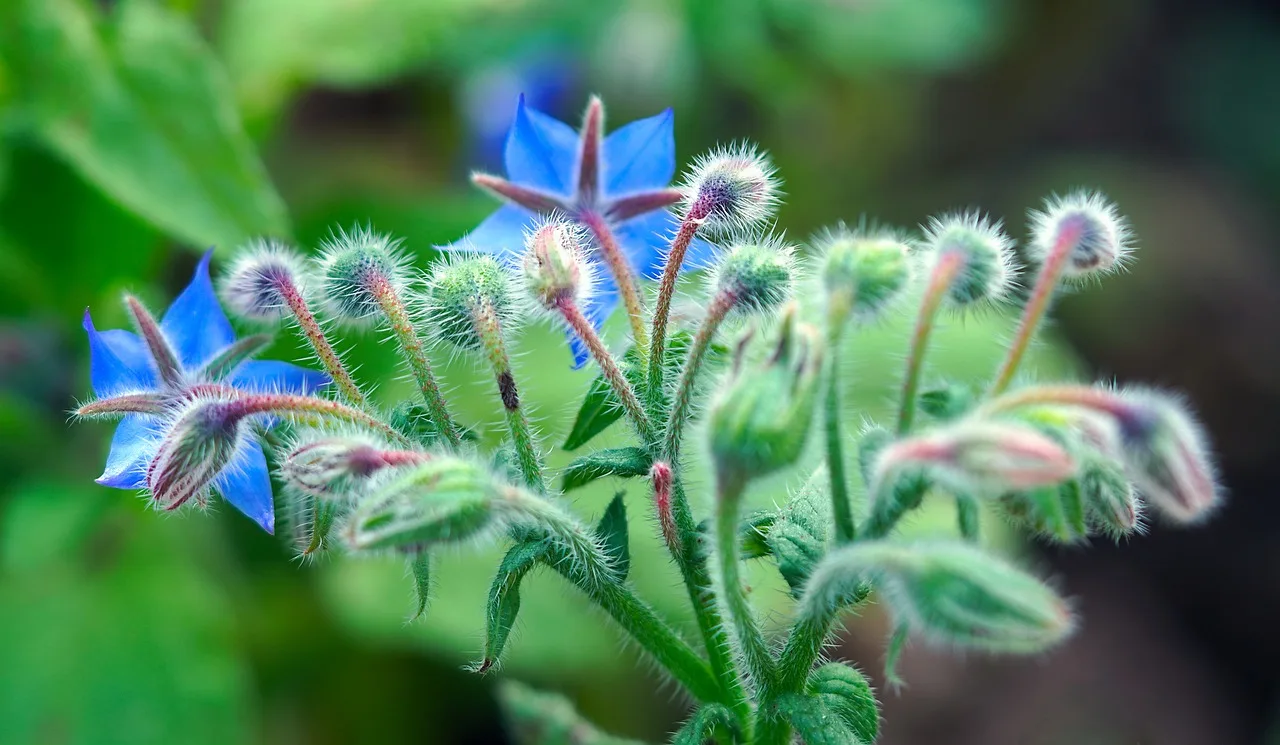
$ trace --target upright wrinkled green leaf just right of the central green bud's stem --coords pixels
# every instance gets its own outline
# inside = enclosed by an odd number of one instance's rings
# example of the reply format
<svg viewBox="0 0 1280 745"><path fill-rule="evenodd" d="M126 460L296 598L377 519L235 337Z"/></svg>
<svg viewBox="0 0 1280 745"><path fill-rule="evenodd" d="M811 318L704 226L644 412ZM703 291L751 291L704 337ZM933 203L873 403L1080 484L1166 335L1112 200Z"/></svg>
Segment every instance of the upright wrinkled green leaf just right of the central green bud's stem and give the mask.
<svg viewBox="0 0 1280 745"><path fill-rule="evenodd" d="M778 559L778 572L796 598L831 543L831 498L826 484L827 467L820 466L782 508L765 539Z"/></svg>

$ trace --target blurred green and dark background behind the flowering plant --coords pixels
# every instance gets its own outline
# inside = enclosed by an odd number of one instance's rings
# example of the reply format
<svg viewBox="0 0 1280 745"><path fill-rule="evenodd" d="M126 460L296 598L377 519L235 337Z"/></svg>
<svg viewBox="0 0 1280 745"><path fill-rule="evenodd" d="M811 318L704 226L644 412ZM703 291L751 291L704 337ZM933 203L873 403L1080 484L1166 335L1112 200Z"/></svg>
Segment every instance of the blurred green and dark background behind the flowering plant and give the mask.
<svg viewBox="0 0 1280 745"><path fill-rule="evenodd" d="M493 207L466 177L499 168L520 92L570 122L591 92L613 124L672 106L682 163L759 142L796 238L972 205L1023 236L1051 191L1111 195L1135 270L1065 300L1036 366L1185 390L1230 503L1120 545L1002 539L1076 599L1079 635L1034 659L911 646L882 741L1280 742L1277 81L1262 0L0 0L0 742L504 741L493 676L462 671L495 553L448 557L407 623L399 565L300 565L228 509L166 518L93 485L110 428L67 412L84 306L100 328L124 289L163 307L205 246L367 221L426 266ZM952 324L936 371L980 380L1007 330ZM884 411L900 334L851 344L851 417ZM355 347L394 397L376 338ZM559 442L590 375L548 329L518 347ZM493 437L485 381L444 375ZM640 504L636 582L682 618ZM556 577L525 597L503 675L620 735L673 730L685 701L603 617ZM884 639L872 609L838 654L878 680Z"/></svg>

